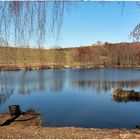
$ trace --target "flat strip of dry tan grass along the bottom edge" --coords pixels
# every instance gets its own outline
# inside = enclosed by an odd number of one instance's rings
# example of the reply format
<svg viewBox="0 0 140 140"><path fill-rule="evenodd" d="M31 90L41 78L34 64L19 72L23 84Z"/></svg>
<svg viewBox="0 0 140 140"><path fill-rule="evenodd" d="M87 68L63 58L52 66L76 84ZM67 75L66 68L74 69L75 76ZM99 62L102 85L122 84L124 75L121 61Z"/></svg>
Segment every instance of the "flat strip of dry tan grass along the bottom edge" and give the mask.
<svg viewBox="0 0 140 140"><path fill-rule="evenodd" d="M44 138L44 139L86 139L86 138L140 138L140 130L126 130L126 129L86 129L86 128L49 128L41 126L25 126L21 124L9 125L0 128L0 138Z"/></svg>

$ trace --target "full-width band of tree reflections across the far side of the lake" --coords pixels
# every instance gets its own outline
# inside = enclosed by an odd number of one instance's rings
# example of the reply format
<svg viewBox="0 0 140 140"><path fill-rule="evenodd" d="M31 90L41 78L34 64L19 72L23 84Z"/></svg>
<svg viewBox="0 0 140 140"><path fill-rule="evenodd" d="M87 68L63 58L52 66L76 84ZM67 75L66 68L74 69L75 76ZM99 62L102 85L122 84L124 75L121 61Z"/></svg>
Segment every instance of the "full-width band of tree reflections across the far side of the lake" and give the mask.
<svg viewBox="0 0 140 140"><path fill-rule="evenodd" d="M67 73L68 72L68 73ZM140 80L109 81L109 80L87 80L87 75L76 77L77 73L66 70L40 70L40 71L19 71L0 72L0 104L3 104L15 91L22 95L36 92L62 92L68 81L68 88L92 88L100 93L109 91L112 88L140 87ZM82 80L78 80L82 77ZM121 101L121 99L114 99Z"/></svg>

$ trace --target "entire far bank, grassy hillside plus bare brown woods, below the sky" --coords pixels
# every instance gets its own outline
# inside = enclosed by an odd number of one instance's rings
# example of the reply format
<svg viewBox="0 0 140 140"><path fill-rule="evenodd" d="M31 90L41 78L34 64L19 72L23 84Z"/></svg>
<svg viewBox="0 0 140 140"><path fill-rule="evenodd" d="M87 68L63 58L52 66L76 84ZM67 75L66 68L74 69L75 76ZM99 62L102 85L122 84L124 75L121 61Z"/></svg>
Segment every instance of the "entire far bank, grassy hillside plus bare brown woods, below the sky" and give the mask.
<svg viewBox="0 0 140 140"><path fill-rule="evenodd" d="M139 67L140 43L104 43L77 48L34 49L0 47L0 67L92 68Z"/></svg>

